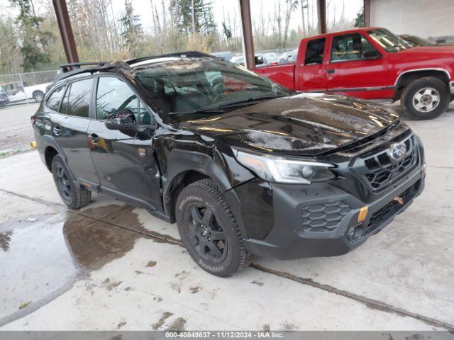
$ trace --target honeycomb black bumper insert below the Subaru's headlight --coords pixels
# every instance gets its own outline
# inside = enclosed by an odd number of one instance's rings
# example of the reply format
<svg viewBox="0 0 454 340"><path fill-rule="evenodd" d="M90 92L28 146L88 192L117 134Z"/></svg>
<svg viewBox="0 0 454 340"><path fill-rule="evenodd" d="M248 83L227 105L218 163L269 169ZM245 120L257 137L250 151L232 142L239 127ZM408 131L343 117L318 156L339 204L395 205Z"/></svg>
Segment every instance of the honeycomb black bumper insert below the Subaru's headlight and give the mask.
<svg viewBox="0 0 454 340"><path fill-rule="evenodd" d="M330 203L306 205L302 211L306 232L331 232L351 210L350 205L339 200Z"/></svg>

